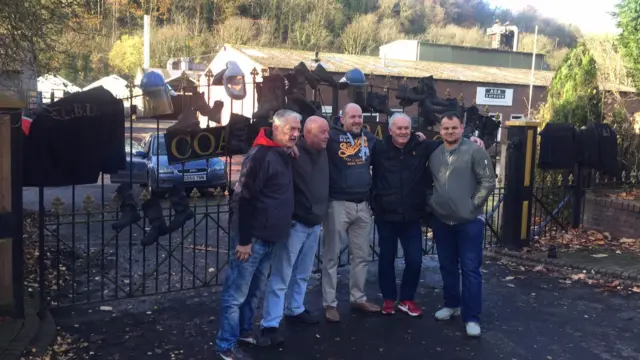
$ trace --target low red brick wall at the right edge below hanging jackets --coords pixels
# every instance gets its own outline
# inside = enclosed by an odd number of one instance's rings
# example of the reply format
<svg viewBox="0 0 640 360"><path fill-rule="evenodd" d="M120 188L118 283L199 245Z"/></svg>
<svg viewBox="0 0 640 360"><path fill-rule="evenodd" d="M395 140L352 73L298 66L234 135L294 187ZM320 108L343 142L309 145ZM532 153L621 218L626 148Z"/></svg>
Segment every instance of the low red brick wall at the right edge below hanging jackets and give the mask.
<svg viewBox="0 0 640 360"><path fill-rule="evenodd" d="M584 226L614 237L635 239L640 234L640 202L587 195Z"/></svg>

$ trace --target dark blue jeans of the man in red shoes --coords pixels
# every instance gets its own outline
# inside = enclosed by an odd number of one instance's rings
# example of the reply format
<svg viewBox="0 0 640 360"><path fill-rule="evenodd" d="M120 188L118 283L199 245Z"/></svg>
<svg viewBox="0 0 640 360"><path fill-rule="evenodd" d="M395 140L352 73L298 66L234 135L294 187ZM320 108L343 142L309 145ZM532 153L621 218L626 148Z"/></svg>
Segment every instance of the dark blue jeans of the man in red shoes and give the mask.
<svg viewBox="0 0 640 360"><path fill-rule="evenodd" d="M378 284L384 300L413 301L422 270L422 227L420 220L389 222L376 219L378 229ZM396 288L395 260L398 239L404 253L405 267L400 284L400 298Z"/></svg>

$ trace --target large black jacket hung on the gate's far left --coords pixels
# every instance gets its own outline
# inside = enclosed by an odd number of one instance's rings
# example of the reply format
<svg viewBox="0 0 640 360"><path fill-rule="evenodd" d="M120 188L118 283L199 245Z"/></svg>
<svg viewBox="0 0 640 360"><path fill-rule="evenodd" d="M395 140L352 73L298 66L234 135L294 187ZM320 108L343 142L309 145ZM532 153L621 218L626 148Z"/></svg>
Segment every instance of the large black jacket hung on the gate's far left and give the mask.
<svg viewBox="0 0 640 360"><path fill-rule="evenodd" d="M23 186L95 184L126 167L124 105L102 86L40 111L24 141Z"/></svg>

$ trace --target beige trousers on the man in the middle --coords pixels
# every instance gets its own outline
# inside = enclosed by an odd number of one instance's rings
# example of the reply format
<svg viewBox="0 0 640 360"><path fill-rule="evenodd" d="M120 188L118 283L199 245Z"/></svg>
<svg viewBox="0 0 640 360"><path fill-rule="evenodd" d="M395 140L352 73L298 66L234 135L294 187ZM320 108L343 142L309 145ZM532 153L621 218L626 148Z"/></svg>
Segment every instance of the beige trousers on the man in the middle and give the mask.
<svg viewBox="0 0 640 360"><path fill-rule="evenodd" d="M349 298L351 302L367 299L364 285L367 266L371 257L372 214L369 204L348 201L331 201L323 223L324 251L322 254L322 303L337 306L336 287L338 263L343 240L349 241Z"/></svg>

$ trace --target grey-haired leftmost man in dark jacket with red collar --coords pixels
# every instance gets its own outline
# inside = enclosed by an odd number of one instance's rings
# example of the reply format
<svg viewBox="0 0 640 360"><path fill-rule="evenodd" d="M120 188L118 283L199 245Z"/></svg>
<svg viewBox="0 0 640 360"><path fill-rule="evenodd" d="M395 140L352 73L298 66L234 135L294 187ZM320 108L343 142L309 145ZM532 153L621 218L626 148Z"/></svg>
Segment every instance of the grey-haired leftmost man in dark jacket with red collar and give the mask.
<svg viewBox="0 0 640 360"><path fill-rule="evenodd" d="M291 156L300 134L301 116L291 110L273 115L272 129L262 128L242 162L233 194L231 249L220 297L220 359L247 359L237 340L251 338L253 314L269 274L275 244L287 241L294 209Z"/></svg>

